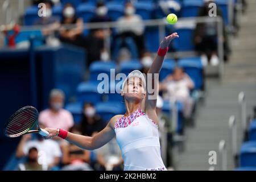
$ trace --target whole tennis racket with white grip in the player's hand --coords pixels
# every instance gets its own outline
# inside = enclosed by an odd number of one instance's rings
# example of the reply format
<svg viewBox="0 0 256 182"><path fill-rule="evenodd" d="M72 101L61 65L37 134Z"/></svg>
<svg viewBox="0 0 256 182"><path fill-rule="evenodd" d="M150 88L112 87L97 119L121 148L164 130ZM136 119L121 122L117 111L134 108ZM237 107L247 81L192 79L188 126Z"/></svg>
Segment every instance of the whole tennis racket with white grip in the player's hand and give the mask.
<svg viewBox="0 0 256 182"><path fill-rule="evenodd" d="M25 106L16 111L5 125L5 135L10 138L20 137L24 134L39 133L43 137L49 135L48 131L40 129L38 125L38 110L32 106ZM37 130L32 130L36 126Z"/></svg>

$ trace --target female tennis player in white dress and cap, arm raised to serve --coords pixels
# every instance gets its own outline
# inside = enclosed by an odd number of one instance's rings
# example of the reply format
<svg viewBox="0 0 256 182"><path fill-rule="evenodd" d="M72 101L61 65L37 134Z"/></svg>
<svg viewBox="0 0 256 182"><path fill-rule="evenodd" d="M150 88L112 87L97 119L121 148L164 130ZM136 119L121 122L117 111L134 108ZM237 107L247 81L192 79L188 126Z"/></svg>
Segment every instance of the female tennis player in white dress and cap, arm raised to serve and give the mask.
<svg viewBox="0 0 256 182"><path fill-rule="evenodd" d="M159 73L164 56L168 51L171 40L179 38L177 33L165 37L160 43L158 54L155 57L148 73L152 79L147 84L154 85L154 74ZM144 76L138 70L131 72L122 84L121 95L124 98L126 113L115 115L108 125L94 137L85 137L69 133L62 129L46 128L49 132L47 138L60 137L76 144L85 150L94 150L108 143L116 137L122 151L124 170L167 170L160 156L160 143L158 136L158 117L156 115L156 92L148 92Z"/></svg>

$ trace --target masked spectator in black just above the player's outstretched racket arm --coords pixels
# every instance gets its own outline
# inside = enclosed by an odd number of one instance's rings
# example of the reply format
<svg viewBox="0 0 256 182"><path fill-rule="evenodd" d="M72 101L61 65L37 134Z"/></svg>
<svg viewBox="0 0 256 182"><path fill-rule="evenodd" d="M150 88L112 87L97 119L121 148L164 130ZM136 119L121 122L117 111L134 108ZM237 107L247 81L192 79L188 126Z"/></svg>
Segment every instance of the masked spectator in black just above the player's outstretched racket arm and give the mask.
<svg viewBox="0 0 256 182"><path fill-rule="evenodd" d="M105 127L100 115L96 114L96 109L91 103L84 104L84 112L80 122L83 135L92 136Z"/></svg>

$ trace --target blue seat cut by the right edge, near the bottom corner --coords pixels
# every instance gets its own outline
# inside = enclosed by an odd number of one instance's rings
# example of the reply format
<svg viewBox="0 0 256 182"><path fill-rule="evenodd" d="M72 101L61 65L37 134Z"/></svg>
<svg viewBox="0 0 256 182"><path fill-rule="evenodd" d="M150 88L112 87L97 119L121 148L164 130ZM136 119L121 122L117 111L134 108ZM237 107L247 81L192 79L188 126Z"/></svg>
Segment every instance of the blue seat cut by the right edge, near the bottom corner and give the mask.
<svg viewBox="0 0 256 182"><path fill-rule="evenodd" d="M256 142L245 142L242 144L240 167L256 167Z"/></svg>

